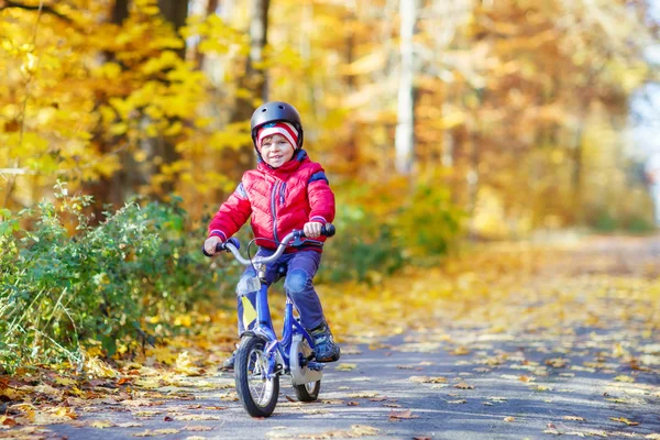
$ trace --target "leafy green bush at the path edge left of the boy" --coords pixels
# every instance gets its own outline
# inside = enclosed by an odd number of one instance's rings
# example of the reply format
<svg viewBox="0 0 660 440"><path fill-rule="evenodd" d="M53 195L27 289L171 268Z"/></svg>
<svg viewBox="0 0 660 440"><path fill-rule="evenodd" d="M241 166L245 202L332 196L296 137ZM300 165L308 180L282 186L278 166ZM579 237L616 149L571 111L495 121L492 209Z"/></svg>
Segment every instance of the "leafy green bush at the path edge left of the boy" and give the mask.
<svg viewBox="0 0 660 440"><path fill-rule="evenodd" d="M67 195L0 222L0 360L80 361L80 348L100 343L112 355L176 330L217 286L200 252L204 230L186 231L178 201L129 202L97 227L84 213L88 196ZM30 230L22 222L33 222ZM221 279L235 279L234 266ZM233 267L233 268L232 268ZM233 285L234 280L228 283Z"/></svg>

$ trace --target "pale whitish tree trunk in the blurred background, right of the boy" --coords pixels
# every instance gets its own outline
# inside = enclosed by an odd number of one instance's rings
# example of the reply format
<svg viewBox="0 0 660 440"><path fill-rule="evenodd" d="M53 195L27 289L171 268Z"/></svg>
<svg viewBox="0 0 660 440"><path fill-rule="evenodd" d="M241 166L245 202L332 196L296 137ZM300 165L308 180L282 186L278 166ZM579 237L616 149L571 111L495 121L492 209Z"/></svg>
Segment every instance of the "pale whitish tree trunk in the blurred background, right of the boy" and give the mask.
<svg viewBox="0 0 660 440"><path fill-rule="evenodd" d="M417 0L400 0L400 77L398 88L397 125L395 136L397 172L409 175L413 169L415 154L415 100L414 100L414 64L413 34L417 13Z"/></svg>

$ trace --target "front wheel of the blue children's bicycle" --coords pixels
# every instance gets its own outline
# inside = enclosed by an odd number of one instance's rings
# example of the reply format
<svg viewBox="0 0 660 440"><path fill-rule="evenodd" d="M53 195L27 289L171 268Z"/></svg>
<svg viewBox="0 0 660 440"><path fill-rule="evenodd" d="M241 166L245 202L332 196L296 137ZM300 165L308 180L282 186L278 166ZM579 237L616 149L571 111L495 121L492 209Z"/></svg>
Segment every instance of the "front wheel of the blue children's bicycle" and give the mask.
<svg viewBox="0 0 660 440"><path fill-rule="evenodd" d="M237 350L234 378L243 408L252 417L268 417L275 410L279 394L279 377L267 377L268 360L265 341L244 337Z"/></svg>

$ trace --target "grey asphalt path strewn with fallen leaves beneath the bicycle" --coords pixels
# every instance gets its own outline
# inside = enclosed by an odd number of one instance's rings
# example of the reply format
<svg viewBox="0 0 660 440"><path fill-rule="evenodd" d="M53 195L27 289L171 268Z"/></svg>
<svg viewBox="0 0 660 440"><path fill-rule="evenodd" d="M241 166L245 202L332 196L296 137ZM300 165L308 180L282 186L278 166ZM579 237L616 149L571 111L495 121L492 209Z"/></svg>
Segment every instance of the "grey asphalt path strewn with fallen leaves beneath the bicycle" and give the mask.
<svg viewBox="0 0 660 440"><path fill-rule="evenodd" d="M658 244L603 239L562 260L562 271L575 277L598 271L657 277L649 264L658 265ZM576 264L585 261L597 267ZM557 270L549 267L540 279L551 279ZM596 287L575 293L574 304L640 306L630 302L635 295L613 290L608 297L612 289ZM481 322L426 322L426 331L345 343L342 359L324 371L318 402L296 402L283 377L270 418L250 417L232 374L218 372L182 376L176 386L152 389L155 398L92 402L75 420L78 427L50 426L46 438L660 439L658 324L631 317L593 327L558 323L548 331L514 326L520 310L538 306L535 300L543 298L517 302L506 331ZM658 295L642 307L654 308L660 320ZM620 348L626 352L617 353Z"/></svg>

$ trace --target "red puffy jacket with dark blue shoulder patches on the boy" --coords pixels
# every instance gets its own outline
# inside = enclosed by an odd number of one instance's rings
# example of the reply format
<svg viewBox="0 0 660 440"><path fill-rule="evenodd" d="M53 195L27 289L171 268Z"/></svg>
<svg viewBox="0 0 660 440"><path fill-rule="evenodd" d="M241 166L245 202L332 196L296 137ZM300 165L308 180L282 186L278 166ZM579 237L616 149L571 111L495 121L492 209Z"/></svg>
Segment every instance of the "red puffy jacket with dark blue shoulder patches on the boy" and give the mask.
<svg viewBox="0 0 660 440"><path fill-rule="evenodd" d="M256 244L267 249L277 248L272 240L277 242L292 230L301 230L308 221L332 222L334 194L321 165L311 162L304 150L278 168L261 162L256 169L243 174L237 190L220 206L209 224L209 237L229 239L248 221L248 217L252 217ZM308 242L321 252L324 240L324 237L319 237Z"/></svg>

